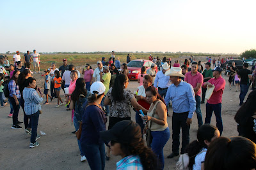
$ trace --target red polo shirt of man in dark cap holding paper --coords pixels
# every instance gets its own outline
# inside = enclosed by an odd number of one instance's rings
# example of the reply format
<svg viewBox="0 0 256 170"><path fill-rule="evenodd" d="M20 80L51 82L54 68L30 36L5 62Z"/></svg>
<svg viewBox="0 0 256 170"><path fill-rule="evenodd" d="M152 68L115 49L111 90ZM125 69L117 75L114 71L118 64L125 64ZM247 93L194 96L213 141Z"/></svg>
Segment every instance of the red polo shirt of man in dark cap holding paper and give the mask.
<svg viewBox="0 0 256 170"><path fill-rule="evenodd" d="M207 100L207 103L209 104L219 104L222 100L222 94L223 90L225 89L226 81L221 76L219 78L211 78L209 81L212 85L215 86L212 96L209 100ZM204 83L207 83L204 82ZM204 85L204 84L203 84Z"/></svg>

